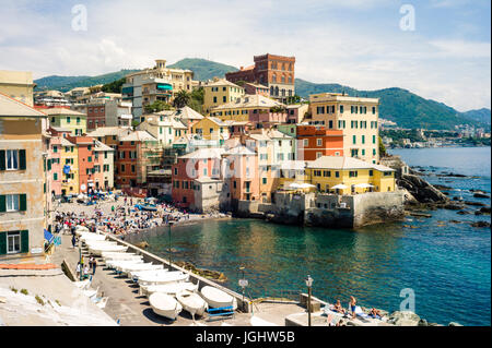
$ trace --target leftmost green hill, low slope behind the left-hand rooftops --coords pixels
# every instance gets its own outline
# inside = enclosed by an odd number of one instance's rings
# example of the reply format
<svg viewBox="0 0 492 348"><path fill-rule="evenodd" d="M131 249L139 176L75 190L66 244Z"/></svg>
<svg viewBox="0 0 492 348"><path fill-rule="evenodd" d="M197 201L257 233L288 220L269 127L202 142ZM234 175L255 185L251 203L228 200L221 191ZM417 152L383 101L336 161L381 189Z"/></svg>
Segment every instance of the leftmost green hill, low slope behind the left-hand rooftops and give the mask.
<svg viewBox="0 0 492 348"><path fill-rule="evenodd" d="M90 87L94 85L107 84L116 80L120 80L128 74L137 72L138 70L120 70L97 76L47 76L35 80L37 84L36 91L57 89L68 92L75 87Z"/></svg>

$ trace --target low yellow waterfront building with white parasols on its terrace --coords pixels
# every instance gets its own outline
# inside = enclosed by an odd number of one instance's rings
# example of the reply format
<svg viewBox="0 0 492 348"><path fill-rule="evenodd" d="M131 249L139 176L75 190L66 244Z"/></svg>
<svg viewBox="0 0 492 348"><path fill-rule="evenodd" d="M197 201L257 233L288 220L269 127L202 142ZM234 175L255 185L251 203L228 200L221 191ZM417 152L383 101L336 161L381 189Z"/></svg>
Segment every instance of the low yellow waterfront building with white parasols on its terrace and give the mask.
<svg viewBox="0 0 492 348"><path fill-rule="evenodd" d="M393 192L395 170L352 157L323 156L306 165L306 180L317 191L339 194Z"/></svg>

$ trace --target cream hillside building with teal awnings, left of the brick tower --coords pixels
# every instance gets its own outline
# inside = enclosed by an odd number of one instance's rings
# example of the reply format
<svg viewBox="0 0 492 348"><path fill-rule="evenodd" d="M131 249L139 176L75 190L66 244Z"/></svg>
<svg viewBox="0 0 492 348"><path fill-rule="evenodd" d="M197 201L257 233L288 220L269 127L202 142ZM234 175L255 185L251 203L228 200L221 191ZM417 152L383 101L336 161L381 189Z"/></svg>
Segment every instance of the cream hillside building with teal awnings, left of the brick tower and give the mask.
<svg viewBox="0 0 492 348"><path fill-rule="evenodd" d="M134 118L144 113L144 107L156 100L171 103L179 91L191 92L196 82L191 70L166 68L164 59L155 60L155 67L127 75L122 85L124 100L133 105Z"/></svg>

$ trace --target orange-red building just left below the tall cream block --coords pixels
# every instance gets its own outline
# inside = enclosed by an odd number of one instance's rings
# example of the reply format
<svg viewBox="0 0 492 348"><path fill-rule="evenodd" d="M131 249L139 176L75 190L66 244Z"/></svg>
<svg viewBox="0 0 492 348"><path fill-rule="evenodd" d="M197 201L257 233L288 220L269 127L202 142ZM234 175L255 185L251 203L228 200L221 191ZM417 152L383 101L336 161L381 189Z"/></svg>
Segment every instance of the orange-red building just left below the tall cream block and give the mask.
<svg viewBox="0 0 492 348"><path fill-rule="evenodd" d="M316 125L297 125L296 158L316 160L321 156L343 156L343 131Z"/></svg>

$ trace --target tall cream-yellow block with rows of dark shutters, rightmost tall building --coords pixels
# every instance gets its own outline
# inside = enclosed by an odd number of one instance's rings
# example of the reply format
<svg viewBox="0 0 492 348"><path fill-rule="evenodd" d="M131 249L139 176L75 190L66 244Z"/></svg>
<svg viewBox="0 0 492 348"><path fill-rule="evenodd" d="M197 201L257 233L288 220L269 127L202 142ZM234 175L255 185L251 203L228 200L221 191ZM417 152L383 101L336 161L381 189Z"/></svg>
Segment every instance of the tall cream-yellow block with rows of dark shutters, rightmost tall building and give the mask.
<svg viewBox="0 0 492 348"><path fill-rule="evenodd" d="M311 124L342 130L343 153L372 164L379 161L379 99L350 97L340 93L309 96Z"/></svg>

